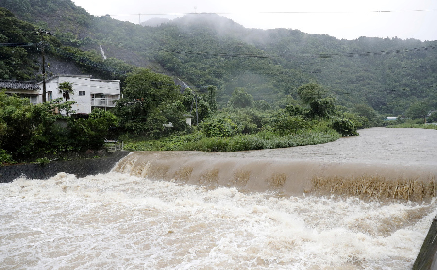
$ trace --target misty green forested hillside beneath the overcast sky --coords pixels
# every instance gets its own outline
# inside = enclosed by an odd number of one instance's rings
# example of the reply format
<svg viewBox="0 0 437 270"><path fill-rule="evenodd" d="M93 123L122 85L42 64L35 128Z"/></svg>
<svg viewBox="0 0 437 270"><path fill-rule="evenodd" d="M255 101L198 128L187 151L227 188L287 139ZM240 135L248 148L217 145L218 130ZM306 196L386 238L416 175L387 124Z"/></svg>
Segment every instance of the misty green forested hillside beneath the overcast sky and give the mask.
<svg viewBox="0 0 437 270"><path fill-rule="evenodd" d="M15 27L18 19L24 20L54 34L52 53L74 60L84 73L123 80L133 66L149 67L180 78L200 93L206 91L202 87L217 86L222 107L235 88L242 87L255 100L285 108L297 104L299 86L317 83L325 89L325 97L349 108L368 104L397 116L412 103L426 101L437 109L436 41L339 40L291 29L247 29L214 14L187 15L143 27L92 16L70 0L0 0L0 7L17 17L3 16L2 43L37 42L39 36L29 25L18 27L23 41L6 33L12 28L3 23ZM108 59L102 58L100 46ZM35 55L27 57L37 53L36 48L14 47L14 53L20 53L19 65L12 64L12 49L5 48L0 48L4 79L37 78L37 72L19 72L37 68Z"/></svg>

